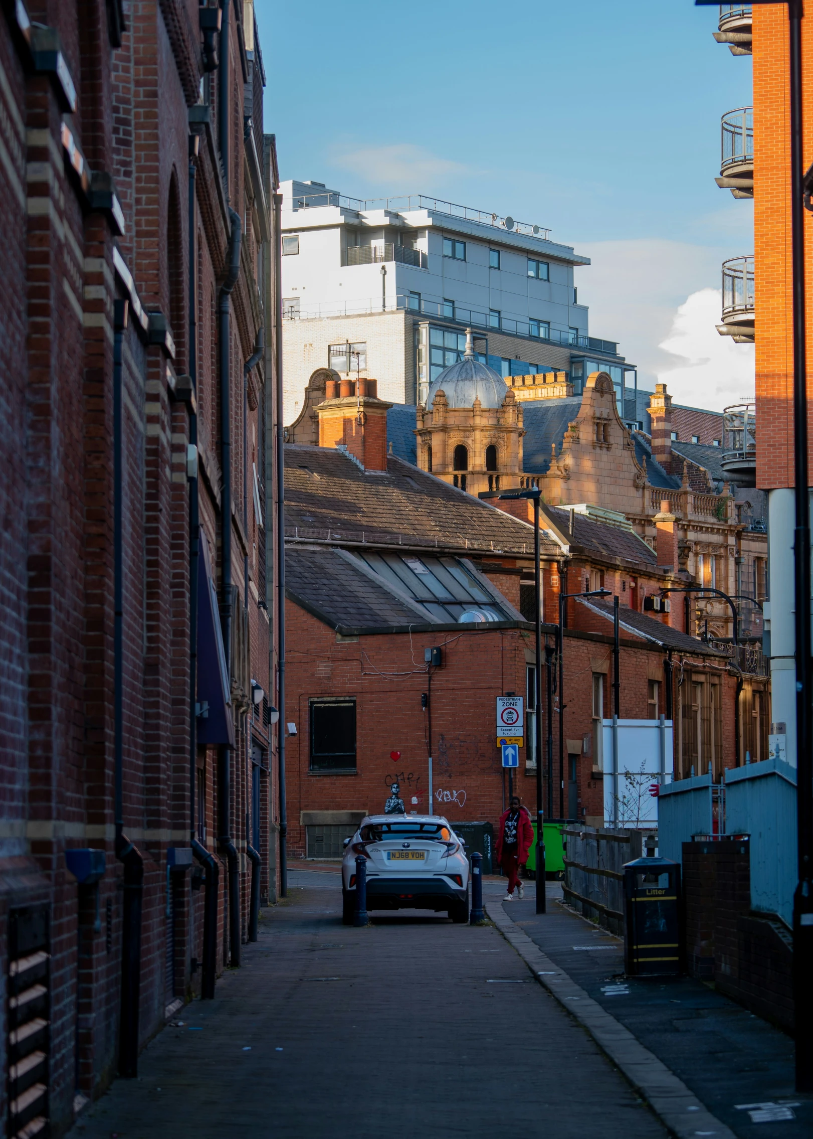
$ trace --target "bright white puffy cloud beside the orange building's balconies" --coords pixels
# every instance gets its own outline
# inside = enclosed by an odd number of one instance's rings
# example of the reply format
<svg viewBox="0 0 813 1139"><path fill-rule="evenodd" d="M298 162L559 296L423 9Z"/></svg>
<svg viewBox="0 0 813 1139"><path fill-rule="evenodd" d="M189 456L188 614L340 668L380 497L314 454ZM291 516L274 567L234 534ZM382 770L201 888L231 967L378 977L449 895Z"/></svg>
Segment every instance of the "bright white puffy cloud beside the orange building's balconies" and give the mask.
<svg viewBox="0 0 813 1139"><path fill-rule="evenodd" d="M734 344L721 336L721 294L704 288L680 305L672 330L659 347L682 362L658 371L675 403L722 411L726 403L738 403L754 395L754 346Z"/></svg>

